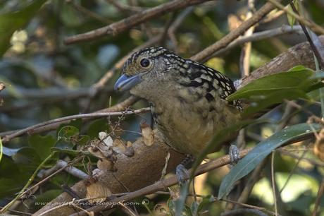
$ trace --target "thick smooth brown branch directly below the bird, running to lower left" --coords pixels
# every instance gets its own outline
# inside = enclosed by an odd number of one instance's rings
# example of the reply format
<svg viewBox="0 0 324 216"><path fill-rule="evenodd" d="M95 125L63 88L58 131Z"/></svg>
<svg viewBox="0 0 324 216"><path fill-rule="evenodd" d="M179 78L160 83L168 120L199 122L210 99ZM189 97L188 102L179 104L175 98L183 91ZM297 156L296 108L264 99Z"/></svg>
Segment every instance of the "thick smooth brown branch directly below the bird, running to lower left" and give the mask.
<svg viewBox="0 0 324 216"><path fill-rule="evenodd" d="M112 193L136 191L139 188L154 184L155 181L161 178L161 170L164 167L168 152L170 152L170 160L168 162L167 172L172 172L177 164L185 158L184 155L168 148L168 145L163 143L156 133L154 133L154 145L148 147L142 143L142 139L140 138L135 143L132 143L132 148L135 150L134 156L127 157L123 154L118 155L115 164L117 172L101 171L99 169L94 170L94 176L107 186ZM125 186L127 189L125 189ZM79 181L72 189L78 196L85 197L85 181ZM39 215L46 210L54 208L56 205L61 205L70 200L72 198L67 193L62 193L52 200L50 204L45 205L41 210L36 212L35 215ZM63 208L46 213L46 215L70 215L74 212L73 208L64 206Z"/></svg>

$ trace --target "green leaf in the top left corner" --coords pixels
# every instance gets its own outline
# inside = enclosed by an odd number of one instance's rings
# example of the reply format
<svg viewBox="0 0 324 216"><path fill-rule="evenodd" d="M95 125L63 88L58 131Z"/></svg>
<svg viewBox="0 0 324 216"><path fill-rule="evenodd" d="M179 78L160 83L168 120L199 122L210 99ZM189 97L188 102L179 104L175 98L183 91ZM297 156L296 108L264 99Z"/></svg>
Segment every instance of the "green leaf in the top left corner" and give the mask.
<svg viewBox="0 0 324 216"><path fill-rule="evenodd" d="M13 32L20 28L24 28L45 1L46 0L34 0L20 11L0 14L0 57L3 56L10 47L10 39Z"/></svg>

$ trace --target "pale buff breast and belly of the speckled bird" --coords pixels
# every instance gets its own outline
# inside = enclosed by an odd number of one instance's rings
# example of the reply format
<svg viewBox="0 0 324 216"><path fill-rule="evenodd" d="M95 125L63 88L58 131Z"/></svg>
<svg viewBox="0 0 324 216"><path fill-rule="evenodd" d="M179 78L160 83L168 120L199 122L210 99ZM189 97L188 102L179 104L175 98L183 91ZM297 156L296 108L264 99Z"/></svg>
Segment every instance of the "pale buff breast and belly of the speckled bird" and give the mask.
<svg viewBox="0 0 324 216"><path fill-rule="evenodd" d="M223 109L226 106L222 103L224 101L216 102L212 111L206 107L206 101L173 100L172 104L159 104L155 107L159 113L157 127L168 145L197 156L215 133L235 123L236 114Z"/></svg>

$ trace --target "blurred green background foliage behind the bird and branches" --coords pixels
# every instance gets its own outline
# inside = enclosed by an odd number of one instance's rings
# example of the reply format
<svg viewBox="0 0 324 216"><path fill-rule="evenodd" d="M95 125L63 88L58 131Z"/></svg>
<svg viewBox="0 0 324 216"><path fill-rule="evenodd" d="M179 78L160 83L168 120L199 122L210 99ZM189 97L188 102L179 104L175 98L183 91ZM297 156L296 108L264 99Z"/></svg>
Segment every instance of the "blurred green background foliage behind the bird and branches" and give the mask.
<svg viewBox="0 0 324 216"><path fill-rule="evenodd" d="M138 7L149 8L163 4L166 0L123 0L118 2L125 5L137 3ZM265 2L257 1L256 7L259 8ZM244 18L247 12L246 3L246 1L219 0L194 6L192 12L175 32L175 40L167 38L156 46L168 47L175 50L177 54L189 58L229 32L229 16L235 15L239 20ZM91 13L80 11L75 5L96 13L99 18L94 18ZM305 16L311 18L315 23L323 25L323 0L303 1L299 5L299 8L301 7ZM107 36L91 42L66 46L63 44L65 37L101 28L135 12L120 10L105 0L0 0L0 81L6 85L6 89L0 92L0 97L4 100L2 106L0 105L0 132L25 128L61 116L94 112L122 101L127 95L120 95L113 91L113 83L120 71L117 71L99 94L89 100L91 86L104 76L116 61L133 48L147 42L155 35L161 34L168 20L176 18L181 12L177 11L173 15L167 14L154 18L116 37ZM277 28L282 24L294 22L292 18L288 17L288 19L287 16L281 16L274 22L259 25L256 31ZM301 41L304 41L304 35L282 35L254 42L251 52L251 70L265 64L283 50ZM235 47L222 56L210 59L206 65L216 68L235 80L240 76L240 52L241 47ZM305 85L302 86L301 94L296 91L283 90L282 87L291 84L289 86L296 90L295 87L297 85L300 87L300 83L306 78L310 78L313 73L309 73L310 70L307 68L299 68L299 71L304 72L294 73L297 76L292 82L290 82L291 79L287 80L287 77L278 78L277 76L273 80L258 80L261 82L260 85L254 85L256 84L254 83L247 88L254 90L256 95L262 93L263 97L258 98L255 102L263 107L286 99L297 99L308 92L304 92ZM313 78L313 80L318 78L321 77ZM295 82L296 80L297 82ZM258 86L273 87L274 83L278 85L275 90L270 91L268 97L265 97L266 94L258 89ZM306 84L309 87L313 83ZM305 100L297 100L303 108L294 112L293 116L289 116L287 124L306 122L309 112L320 114L318 103L312 103L318 100L318 91L314 89L319 87L316 85L311 88L313 91L307 93L304 97ZM237 95L242 94L242 91L244 90L242 89ZM238 97L242 97L242 95ZM135 108L144 106L147 106L147 102L141 101L134 105ZM255 112L255 110L251 112ZM247 146L259 143L256 138L263 140L278 132L276 130L282 123L280 119L284 112L284 106L278 107L267 114L266 117L270 119L270 123L248 126L246 131ZM96 138L100 131L111 131L111 126L116 123L118 125L120 123L120 128L124 130L119 131L120 134L118 132L116 136L121 136L125 140L135 140L139 136L139 121L142 119L150 122L151 116L141 114L123 116L122 119L111 117L94 121L75 120L68 125L62 124L56 131L23 136L4 143L4 155L0 162L0 206L6 205L8 200L12 200L16 196L15 193L23 188L35 169L51 152L58 153L45 164L43 169L53 167L58 159L73 159L76 155L85 154L82 152L85 143L89 139ZM304 148L304 146L309 148L310 146L299 144L297 143L295 148ZM304 152L297 151L290 146L287 148L290 148L289 150L299 157ZM217 152L211 157L218 157L223 153L224 151ZM276 172L278 188L282 188L288 181L287 186L280 194L284 202L284 205L280 207L280 213L282 212L282 215L310 215L316 200L318 186L323 179L323 167L304 160L296 166L298 160L287 155L276 155L275 171L278 171ZM307 153L306 157L318 162L318 158L311 152ZM94 157L86 158L87 160L84 162L76 164L77 168L85 172L87 162L92 164L96 162ZM264 169L265 172L254 186L247 203L273 210L272 189L269 176L266 174L267 170L270 170L268 164ZM226 173L228 173L228 168L222 167L216 172L206 175L206 179L202 183L204 184L203 189L197 192L201 193L202 197L197 197L196 201L189 196L185 203L184 214L196 215L197 212L206 210L208 212L205 215L219 215L220 212L223 212L225 202L216 201L214 197L218 194L220 181ZM291 173L293 174L291 175ZM242 181L246 182L247 179L249 176ZM40 178L37 177L35 182L39 180ZM39 190L34 194L35 200L32 200L32 203L49 201L62 192L62 184L72 186L77 181L78 179L75 177L61 172L39 187ZM235 187L234 190L236 189ZM139 202L142 202L141 198L138 199ZM154 195L149 196L149 200L149 205L139 207L140 213L153 212L158 206L160 212L169 215L175 214L176 203L170 199L170 196ZM29 211L33 212L42 206L30 204L29 207ZM320 207L322 208L321 214L324 215L324 198L321 200ZM23 210L28 211L26 208ZM116 211L114 214L123 215L123 212Z"/></svg>

